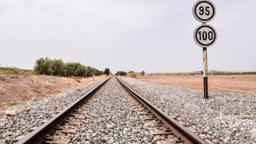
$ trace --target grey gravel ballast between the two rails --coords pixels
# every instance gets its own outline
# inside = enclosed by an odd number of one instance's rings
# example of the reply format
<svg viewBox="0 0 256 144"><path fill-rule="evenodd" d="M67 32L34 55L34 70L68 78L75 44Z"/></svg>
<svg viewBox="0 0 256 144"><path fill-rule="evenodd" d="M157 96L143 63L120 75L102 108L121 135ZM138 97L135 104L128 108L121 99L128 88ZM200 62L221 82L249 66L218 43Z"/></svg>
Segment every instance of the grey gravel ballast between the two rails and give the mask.
<svg viewBox="0 0 256 144"><path fill-rule="evenodd" d="M116 78L111 78L101 94L95 98L85 119L76 119L81 126L65 126L76 129L74 135L58 133L55 138L72 139L74 144L110 143L140 144L155 143L158 140L170 140L173 136L152 136L148 130L163 130L164 127L147 126L127 100ZM73 121L73 120L72 120Z"/></svg>

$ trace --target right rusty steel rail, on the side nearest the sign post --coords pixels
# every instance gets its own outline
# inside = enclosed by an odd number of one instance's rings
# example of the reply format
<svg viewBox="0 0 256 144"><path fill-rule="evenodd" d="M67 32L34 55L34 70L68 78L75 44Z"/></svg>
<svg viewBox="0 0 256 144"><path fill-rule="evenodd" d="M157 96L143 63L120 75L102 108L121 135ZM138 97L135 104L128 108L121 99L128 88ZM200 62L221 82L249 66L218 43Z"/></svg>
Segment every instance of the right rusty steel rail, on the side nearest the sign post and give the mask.
<svg viewBox="0 0 256 144"><path fill-rule="evenodd" d="M115 78L117 78L115 76ZM129 88L127 85L125 85L123 82L121 82L118 78L117 80L120 82L121 85L123 85L126 90L128 90L133 96L135 96L142 104L144 104L148 110L152 112L156 116L158 120L162 120L164 122L163 124L166 127L169 127L172 129L172 133L176 137L181 137L182 140L184 140L184 144L209 144L204 139L202 139L200 136L197 136L195 133L193 133L191 130L189 130L187 127L183 126L178 121L174 120L172 117L170 117L168 114L166 114L164 111L160 110L158 107L156 107L154 104L137 94L135 91L133 91L131 88ZM175 105L173 105L175 106Z"/></svg>

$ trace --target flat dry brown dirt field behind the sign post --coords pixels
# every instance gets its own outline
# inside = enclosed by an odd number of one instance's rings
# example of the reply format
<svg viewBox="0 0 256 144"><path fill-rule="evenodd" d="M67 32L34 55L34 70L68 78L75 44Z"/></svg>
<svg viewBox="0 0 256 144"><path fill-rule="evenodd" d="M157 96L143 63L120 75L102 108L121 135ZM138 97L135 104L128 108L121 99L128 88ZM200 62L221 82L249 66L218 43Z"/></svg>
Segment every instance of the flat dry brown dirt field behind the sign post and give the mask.
<svg viewBox="0 0 256 144"><path fill-rule="evenodd" d="M163 85L181 85L203 91L203 76L137 76L137 79ZM208 90L256 95L256 75L210 75Z"/></svg>

